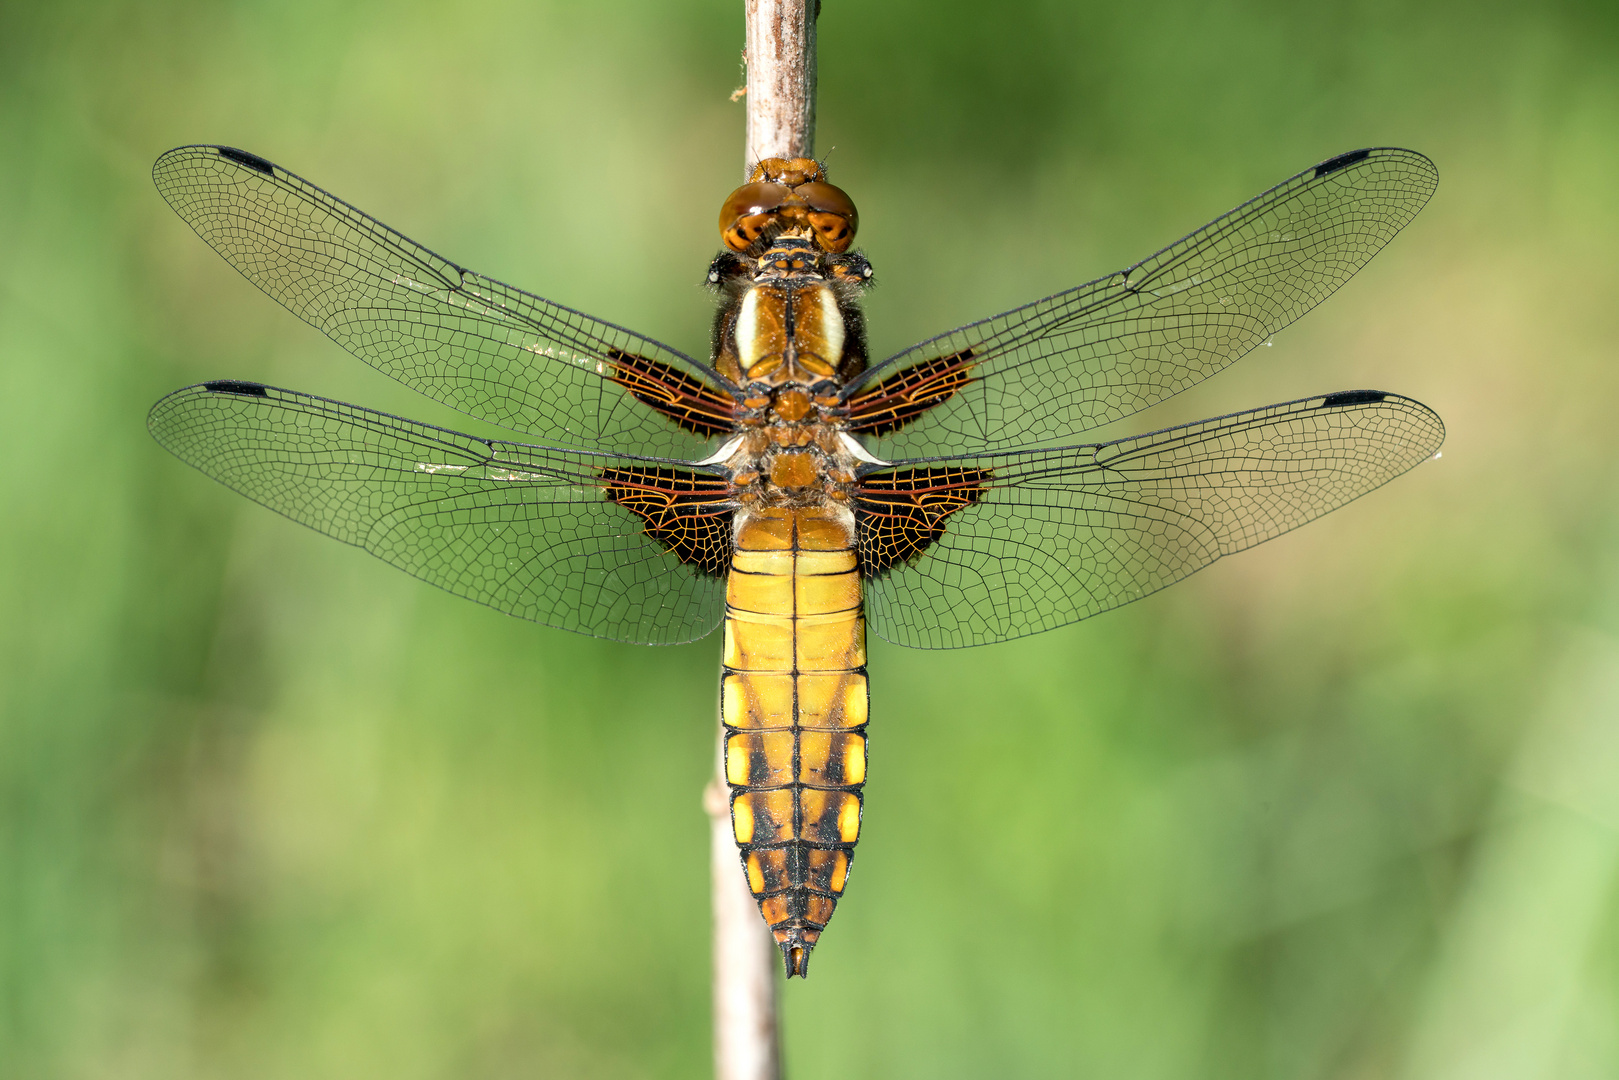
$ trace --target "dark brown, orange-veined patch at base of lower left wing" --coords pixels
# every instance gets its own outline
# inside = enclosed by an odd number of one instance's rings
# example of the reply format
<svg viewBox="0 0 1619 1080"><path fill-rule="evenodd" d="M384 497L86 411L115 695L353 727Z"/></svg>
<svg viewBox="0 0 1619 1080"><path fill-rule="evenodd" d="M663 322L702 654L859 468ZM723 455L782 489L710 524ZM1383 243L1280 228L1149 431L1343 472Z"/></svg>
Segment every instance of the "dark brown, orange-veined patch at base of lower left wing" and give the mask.
<svg viewBox="0 0 1619 1080"><path fill-rule="evenodd" d="M646 534L680 562L724 576L732 555L730 484L672 468L607 468L607 499L646 523Z"/></svg>

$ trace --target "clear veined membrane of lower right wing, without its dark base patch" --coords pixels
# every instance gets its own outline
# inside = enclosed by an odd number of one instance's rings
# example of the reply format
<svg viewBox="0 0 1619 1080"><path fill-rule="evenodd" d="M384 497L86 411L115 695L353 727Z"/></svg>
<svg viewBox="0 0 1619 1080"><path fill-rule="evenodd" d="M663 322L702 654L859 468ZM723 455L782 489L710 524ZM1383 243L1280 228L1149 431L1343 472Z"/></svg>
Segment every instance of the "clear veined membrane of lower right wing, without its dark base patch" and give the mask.
<svg viewBox="0 0 1619 1080"><path fill-rule="evenodd" d="M981 494L866 585L868 620L944 649L1088 619L1386 484L1443 440L1425 405L1350 390L1117 442L926 460Z"/></svg>

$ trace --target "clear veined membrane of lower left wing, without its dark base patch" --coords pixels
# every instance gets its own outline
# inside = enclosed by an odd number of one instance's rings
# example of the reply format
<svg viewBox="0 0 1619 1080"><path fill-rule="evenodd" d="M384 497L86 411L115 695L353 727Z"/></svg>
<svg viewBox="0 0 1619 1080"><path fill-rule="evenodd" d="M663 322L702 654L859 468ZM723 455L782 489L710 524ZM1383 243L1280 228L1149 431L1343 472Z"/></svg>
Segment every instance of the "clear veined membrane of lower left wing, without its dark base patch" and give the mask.
<svg viewBox="0 0 1619 1080"><path fill-rule="evenodd" d="M607 478L665 461L473 439L240 382L176 390L147 427L254 502L508 615L652 644L719 625L724 578L606 494Z"/></svg>

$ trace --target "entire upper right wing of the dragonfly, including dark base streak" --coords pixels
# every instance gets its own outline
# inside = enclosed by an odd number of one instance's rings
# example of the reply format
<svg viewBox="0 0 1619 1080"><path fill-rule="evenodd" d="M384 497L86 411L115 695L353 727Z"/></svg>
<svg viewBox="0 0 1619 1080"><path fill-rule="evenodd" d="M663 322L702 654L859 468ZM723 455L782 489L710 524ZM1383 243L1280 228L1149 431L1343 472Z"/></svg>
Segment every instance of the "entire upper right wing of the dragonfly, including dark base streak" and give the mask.
<svg viewBox="0 0 1619 1080"><path fill-rule="evenodd" d="M894 415L916 416L874 442L884 458L1072 442L1206 379L1315 308L1436 186L1433 162L1412 151L1323 162L1127 270L882 361L845 392L855 426L865 395L874 434Z"/></svg>

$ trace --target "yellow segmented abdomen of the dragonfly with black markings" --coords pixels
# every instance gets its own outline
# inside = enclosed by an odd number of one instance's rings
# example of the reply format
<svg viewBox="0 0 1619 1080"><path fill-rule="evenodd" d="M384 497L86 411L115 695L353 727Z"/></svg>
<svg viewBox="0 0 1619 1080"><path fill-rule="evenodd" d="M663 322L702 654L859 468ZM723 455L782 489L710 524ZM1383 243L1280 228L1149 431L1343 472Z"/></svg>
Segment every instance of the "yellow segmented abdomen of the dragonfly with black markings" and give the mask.
<svg viewBox="0 0 1619 1080"><path fill-rule="evenodd" d="M866 627L842 508L750 510L727 588L720 721L748 887L803 975L860 839Z"/></svg>

